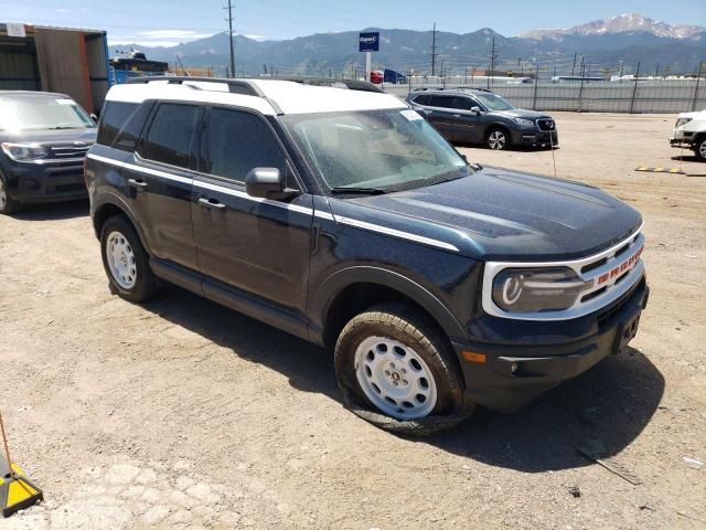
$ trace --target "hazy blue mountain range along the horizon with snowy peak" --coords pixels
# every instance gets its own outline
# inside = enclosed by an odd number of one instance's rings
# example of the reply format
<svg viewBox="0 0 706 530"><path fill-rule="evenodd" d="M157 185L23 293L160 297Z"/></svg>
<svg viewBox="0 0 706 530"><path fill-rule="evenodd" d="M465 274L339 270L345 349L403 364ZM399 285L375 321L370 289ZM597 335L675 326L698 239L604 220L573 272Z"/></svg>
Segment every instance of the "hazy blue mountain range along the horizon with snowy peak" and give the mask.
<svg viewBox="0 0 706 530"><path fill-rule="evenodd" d="M381 32L381 51L374 53L373 67L391 67L400 72L431 73L431 31L366 29ZM258 75L345 75L362 74L363 54L357 53L359 31L318 33L284 41L256 41L235 38L236 74ZM109 35L108 35L109 36ZM587 74L633 73L638 62L641 72L691 73L706 61L706 28L671 25L630 13L597 20L568 29L534 30L517 36L503 36L483 28L458 34L437 31L435 71L464 75L468 70L485 70L495 49L495 71L534 71L557 74L578 73L581 56ZM139 43L110 46L111 56L131 49L148 59L179 60L188 67L212 67L225 73L229 64L228 36L218 33L171 47L146 47ZM576 55L575 55L576 54ZM575 62L575 56L576 62ZM548 74L544 74L548 75Z"/></svg>

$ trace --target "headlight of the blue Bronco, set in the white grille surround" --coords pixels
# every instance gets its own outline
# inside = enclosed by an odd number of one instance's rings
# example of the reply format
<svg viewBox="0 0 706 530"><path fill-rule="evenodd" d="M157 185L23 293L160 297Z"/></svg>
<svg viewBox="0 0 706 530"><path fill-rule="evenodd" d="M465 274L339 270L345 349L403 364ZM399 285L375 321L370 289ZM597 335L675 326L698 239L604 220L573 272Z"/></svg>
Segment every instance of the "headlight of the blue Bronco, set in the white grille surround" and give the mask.
<svg viewBox="0 0 706 530"><path fill-rule="evenodd" d="M558 311L590 285L566 267L506 268L493 280L493 301L509 312Z"/></svg>

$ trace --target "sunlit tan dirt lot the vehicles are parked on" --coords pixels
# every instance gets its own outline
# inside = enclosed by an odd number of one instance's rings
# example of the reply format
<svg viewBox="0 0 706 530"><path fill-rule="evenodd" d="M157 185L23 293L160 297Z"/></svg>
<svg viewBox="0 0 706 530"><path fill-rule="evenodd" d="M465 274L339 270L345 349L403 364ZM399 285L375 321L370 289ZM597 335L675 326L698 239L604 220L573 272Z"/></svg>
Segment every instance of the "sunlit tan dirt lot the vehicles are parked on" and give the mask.
<svg viewBox="0 0 706 530"><path fill-rule="evenodd" d="M346 412L311 344L175 287L110 295L87 204L0 218L0 405L46 497L0 528L706 528L706 468L684 460L706 460L706 165L633 172L678 163L673 116L556 118L558 173L644 215L634 349L427 439ZM552 173L549 151L464 151Z"/></svg>

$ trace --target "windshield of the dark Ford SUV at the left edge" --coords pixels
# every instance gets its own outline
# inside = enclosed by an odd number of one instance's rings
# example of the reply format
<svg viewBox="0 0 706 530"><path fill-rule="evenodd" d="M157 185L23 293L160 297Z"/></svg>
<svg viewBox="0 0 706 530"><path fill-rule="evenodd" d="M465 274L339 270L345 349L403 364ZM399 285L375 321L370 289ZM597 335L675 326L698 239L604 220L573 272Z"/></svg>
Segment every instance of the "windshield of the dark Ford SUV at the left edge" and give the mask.
<svg viewBox="0 0 706 530"><path fill-rule="evenodd" d="M0 129L84 129L95 127L90 116L67 97L8 95L0 97Z"/></svg>

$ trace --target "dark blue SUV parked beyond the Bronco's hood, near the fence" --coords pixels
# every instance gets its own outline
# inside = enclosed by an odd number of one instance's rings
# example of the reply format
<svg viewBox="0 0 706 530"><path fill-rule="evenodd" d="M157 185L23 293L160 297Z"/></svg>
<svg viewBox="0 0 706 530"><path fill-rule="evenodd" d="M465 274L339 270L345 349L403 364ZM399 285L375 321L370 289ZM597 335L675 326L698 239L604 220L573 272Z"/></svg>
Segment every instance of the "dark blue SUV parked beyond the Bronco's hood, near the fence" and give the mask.
<svg viewBox="0 0 706 530"><path fill-rule="evenodd" d="M420 88L407 100L449 141L491 149L559 144L552 116L517 108L482 88Z"/></svg>

